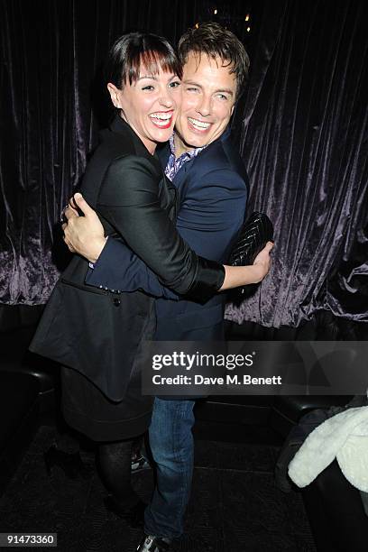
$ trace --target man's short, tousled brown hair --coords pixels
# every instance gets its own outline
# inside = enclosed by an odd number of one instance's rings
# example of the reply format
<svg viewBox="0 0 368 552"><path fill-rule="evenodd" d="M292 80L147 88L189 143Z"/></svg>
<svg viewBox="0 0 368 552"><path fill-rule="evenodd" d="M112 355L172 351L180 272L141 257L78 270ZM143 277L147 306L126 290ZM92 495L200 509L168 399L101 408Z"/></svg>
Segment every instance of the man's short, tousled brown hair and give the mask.
<svg viewBox="0 0 368 552"><path fill-rule="evenodd" d="M244 92L248 80L249 56L244 45L235 36L218 23L201 23L198 27L184 32L178 44L179 59L184 65L190 52L198 56L205 53L209 58L219 57L230 73L236 77L236 100Z"/></svg>

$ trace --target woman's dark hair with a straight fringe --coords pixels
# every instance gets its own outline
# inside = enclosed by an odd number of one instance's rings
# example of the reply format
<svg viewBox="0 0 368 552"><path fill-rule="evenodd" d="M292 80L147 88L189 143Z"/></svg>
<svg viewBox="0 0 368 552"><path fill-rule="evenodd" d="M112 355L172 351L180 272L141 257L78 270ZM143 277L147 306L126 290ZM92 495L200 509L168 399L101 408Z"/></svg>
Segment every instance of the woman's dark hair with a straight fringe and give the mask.
<svg viewBox="0 0 368 552"><path fill-rule="evenodd" d="M170 71L181 78L182 69L169 41L152 32L129 32L115 41L106 61L106 82L122 89L140 76L144 65L154 75L159 69Z"/></svg>

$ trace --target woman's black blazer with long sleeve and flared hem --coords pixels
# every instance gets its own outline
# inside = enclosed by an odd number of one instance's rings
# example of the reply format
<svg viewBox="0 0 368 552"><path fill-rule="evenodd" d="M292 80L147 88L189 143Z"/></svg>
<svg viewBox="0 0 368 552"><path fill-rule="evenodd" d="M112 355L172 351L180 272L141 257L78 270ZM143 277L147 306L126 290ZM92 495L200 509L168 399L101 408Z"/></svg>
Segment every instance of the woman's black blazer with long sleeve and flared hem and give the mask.
<svg viewBox="0 0 368 552"><path fill-rule="evenodd" d="M106 234L124 235L165 285L193 299L207 298L221 286L222 265L198 257L177 234L170 220L175 189L120 117L102 133L82 193L97 209ZM132 388L138 398L143 340L155 332L153 299L140 291L97 290L85 284L87 270L87 261L75 255L51 294L30 348L83 373L110 400L131 397Z"/></svg>

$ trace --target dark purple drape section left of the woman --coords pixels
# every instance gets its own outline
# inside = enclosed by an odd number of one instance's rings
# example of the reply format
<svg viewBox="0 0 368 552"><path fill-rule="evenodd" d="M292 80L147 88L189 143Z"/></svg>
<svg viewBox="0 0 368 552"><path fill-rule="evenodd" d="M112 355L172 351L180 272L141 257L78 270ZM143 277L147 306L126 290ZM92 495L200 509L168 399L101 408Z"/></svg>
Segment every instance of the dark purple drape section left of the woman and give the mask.
<svg viewBox="0 0 368 552"><path fill-rule="evenodd" d="M7 304L49 298L59 276L52 245L60 211L92 146L91 107L81 98L96 67L77 43L83 14L78 3L35 4L0 7L0 297ZM84 46L93 51L95 40Z"/></svg>

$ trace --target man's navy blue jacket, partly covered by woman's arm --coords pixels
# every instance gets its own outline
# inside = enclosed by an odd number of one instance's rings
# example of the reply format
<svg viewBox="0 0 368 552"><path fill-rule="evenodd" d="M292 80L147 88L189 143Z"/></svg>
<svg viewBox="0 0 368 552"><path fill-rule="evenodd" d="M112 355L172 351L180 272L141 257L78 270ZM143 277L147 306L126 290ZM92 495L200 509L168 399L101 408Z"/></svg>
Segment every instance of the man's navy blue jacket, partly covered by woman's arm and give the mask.
<svg viewBox="0 0 368 552"><path fill-rule="evenodd" d="M169 144L159 152L169 159ZM193 160L184 163L172 182L177 189L179 234L199 255L225 263L244 220L248 178L227 129ZM110 290L144 290L156 300L159 340L223 338L225 296L206 304L180 299L124 244L109 239L86 283Z"/></svg>

